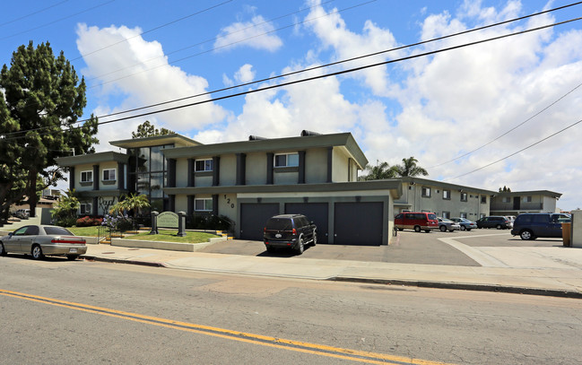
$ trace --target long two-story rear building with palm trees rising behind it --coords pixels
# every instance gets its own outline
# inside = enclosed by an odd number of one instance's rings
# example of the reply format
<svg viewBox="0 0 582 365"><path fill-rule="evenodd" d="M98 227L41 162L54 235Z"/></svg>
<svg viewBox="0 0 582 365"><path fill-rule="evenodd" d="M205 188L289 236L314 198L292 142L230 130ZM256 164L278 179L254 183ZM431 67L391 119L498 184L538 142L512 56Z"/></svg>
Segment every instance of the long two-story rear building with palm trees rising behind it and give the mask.
<svg viewBox="0 0 582 365"><path fill-rule="evenodd" d="M395 213L432 212L444 218L475 221L490 215L491 190L448 184L427 178L400 178L403 194L395 199Z"/></svg>

